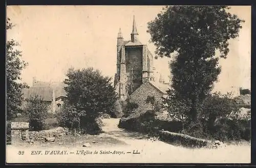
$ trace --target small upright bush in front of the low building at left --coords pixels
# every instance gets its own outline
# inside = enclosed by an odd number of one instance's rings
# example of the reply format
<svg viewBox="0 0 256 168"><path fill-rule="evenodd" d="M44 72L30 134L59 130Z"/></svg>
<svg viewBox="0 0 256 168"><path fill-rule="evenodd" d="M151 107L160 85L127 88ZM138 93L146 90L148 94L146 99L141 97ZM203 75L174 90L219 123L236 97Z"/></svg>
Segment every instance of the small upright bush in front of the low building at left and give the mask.
<svg viewBox="0 0 256 168"><path fill-rule="evenodd" d="M38 95L31 96L27 101L26 114L29 115L31 130L42 130L48 117L48 104Z"/></svg>

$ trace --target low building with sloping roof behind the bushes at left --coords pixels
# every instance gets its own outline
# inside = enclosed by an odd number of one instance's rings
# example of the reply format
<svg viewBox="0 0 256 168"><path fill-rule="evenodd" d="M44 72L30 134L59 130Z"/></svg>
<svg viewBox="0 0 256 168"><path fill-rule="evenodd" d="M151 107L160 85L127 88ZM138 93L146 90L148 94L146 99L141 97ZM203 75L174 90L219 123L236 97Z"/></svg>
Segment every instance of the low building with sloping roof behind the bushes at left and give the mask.
<svg viewBox="0 0 256 168"><path fill-rule="evenodd" d="M64 90L65 84L62 82L45 82L38 81L33 77L33 86L23 89L23 97L29 99L30 97L39 96L48 104L48 113L56 113L60 110L67 93ZM26 102L24 102L26 105Z"/></svg>

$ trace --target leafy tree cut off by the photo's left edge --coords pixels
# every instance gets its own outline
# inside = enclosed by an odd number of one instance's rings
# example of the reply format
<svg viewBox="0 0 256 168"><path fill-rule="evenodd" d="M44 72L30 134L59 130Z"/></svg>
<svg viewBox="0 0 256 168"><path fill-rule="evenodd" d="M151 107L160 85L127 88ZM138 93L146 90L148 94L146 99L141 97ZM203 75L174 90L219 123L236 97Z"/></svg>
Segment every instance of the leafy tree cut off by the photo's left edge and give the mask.
<svg viewBox="0 0 256 168"><path fill-rule="evenodd" d="M13 26L7 18L6 29L10 30ZM22 69L27 66L27 63L21 60L22 52L16 49L18 45L13 39L6 42L7 120L15 118L16 114L21 112L22 89L28 87L18 82Z"/></svg>

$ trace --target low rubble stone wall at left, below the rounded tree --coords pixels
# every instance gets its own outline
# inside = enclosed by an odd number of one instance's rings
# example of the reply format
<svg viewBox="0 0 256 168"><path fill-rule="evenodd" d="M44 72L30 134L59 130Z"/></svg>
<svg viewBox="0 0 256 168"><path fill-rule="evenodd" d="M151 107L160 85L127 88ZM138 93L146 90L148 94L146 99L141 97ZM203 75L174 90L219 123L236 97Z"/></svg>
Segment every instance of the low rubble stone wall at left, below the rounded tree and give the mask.
<svg viewBox="0 0 256 168"><path fill-rule="evenodd" d="M49 130L29 131L29 139L45 141L47 137L58 137L68 134L68 129L57 127Z"/></svg>

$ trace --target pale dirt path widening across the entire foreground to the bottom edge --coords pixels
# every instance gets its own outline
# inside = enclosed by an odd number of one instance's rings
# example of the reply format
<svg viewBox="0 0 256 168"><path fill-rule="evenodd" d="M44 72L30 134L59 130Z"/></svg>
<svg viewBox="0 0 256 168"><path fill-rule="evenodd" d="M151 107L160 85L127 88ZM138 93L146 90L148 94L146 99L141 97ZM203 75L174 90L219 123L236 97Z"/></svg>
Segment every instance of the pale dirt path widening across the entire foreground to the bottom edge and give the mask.
<svg viewBox="0 0 256 168"><path fill-rule="evenodd" d="M148 141L142 134L118 128L119 119L103 119L104 133L77 135L56 139L54 143L33 145L24 149L7 146L7 159L13 162L66 162L66 163L249 163L250 146L227 146L220 149L188 149L161 141ZM93 143L97 142L97 143ZM82 147L90 143L91 147ZM61 145L60 145L61 144ZM13 157L17 151L26 155ZM99 155L30 155L31 150L103 151ZM119 154L104 152L120 151ZM133 154L138 151L139 154ZM131 152L131 153L129 153ZM16 155L15 155L16 156ZM17 161L18 160L18 161Z"/></svg>

